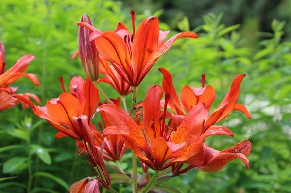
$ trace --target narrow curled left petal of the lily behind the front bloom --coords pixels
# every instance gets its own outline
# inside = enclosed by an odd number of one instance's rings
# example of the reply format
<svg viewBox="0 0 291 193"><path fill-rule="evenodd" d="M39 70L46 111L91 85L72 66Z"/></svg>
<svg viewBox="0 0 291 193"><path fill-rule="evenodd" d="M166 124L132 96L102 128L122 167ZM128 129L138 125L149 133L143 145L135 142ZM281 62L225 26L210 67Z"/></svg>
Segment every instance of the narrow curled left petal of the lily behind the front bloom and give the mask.
<svg viewBox="0 0 291 193"><path fill-rule="evenodd" d="M168 104L171 107L171 110L173 110L173 112L177 115L185 115L184 109L180 103L179 97L173 85L171 74L164 68L158 68L158 70L161 71L161 73L164 75L163 89L165 93L170 94L170 99L169 99Z"/></svg>

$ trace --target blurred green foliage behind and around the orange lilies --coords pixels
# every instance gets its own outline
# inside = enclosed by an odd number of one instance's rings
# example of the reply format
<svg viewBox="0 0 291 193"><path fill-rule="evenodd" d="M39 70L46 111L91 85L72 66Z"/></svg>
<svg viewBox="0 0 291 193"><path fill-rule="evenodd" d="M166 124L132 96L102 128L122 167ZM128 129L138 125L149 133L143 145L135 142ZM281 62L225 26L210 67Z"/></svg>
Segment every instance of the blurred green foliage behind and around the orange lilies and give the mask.
<svg viewBox="0 0 291 193"><path fill-rule="evenodd" d="M137 23L154 15L160 19L161 30L171 30L173 34L175 30L195 31L197 40L177 40L155 63L141 83L139 94L144 96L152 84L161 84L162 75L157 68L164 67L172 74L178 93L185 84L200 87L201 74L206 74L206 85L216 89L215 102L219 103L232 79L237 74L247 74L239 100L247 106L252 119L231 113L221 124L236 138L216 136L206 143L224 149L248 138L253 145L248 156L250 170L235 160L219 172L191 170L166 183L174 183L182 193L288 193L291 192L291 25L288 25L291 12L288 5L291 0L1 0L0 40L6 49L6 69L23 55L36 56L27 72L38 76L40 87L25 78L14 85L18 86L19 93L37 94L42 106L62 92L59 76L64 78L66 88L73 76L85 78L79 59L71 59L78 49L76 23L83 12L101 31L113 30L118 21L130 26L132 9L137 13ZM108 86L101 84L101 87ZM108 89L106 93L110 97L118 96L114 90ZM30 109L23 111L21 105L0 112L1 192L10 193L13 187L15 193L27 192L26 189L34 193L63 193L68 192L70 184L91 174L78 157L75 142L70 138L56 140L56 133ZM45 153L40 154L39 149ZM127 169L130 164L123 162L121 166ZM30 185L29 180L32 180ZM119 192L131 191L114 186Z"/></svg>

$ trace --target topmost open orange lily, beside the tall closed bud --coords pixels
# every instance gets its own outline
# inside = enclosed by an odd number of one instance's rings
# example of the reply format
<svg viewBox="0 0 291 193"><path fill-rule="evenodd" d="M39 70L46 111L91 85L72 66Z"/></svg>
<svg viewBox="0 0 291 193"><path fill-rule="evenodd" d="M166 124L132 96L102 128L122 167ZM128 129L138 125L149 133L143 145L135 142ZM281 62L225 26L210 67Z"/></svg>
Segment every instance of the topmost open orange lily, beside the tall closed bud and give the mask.
<svg viewBox="0 0 291 193"><path fill-rule="evenodd" d="M132 21L134 12L131 12ZM103 34L94 33L95 28L86 25L93 31L90 40L95 39L96 47L104 59L111 62L112 66L121 77L130 85L138 86L145 75L154 65L154 62L164 54L181 37L197 38L194 32L178 33L166 43L164 40L170 31L160 31L156 17L145 19L135 33L133 22L133 34L119 23L116 32L107 31Z"/></svg>

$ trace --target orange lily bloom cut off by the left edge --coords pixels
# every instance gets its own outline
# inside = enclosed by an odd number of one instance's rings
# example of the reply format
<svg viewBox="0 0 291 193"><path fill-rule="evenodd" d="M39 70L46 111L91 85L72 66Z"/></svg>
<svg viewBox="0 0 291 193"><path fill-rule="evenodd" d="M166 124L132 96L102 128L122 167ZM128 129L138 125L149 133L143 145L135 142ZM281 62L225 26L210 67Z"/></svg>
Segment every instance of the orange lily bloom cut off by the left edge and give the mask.
<svg viewBox="0 0 291 193"><path fill-rule="evenodd" d="M17 105L20 100L13 98L12 96L17 91L17 87L10 87L10 84L14 83L21 76L25 76L30 79L35 85L39 86L37 77L34 74L26 74L24 71L28 67L28 64L35 57L33 55L26 55L21 57L17 63L10 69L5 71L5 49L2 42L0 42L0 111L12 108ZM40 103L39 98L32 93L19 94L25 97L27 100L34 99L37 104ZM22 103L24 109L27 108L25 103Z"/></svg>

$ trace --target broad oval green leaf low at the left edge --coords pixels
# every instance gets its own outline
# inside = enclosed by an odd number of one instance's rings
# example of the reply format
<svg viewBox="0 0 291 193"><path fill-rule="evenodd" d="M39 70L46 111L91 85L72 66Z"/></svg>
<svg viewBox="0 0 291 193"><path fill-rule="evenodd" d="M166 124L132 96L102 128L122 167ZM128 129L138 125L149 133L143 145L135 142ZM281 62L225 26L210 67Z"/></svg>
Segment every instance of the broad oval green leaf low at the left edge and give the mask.
<svg viewBox="0 0 291 193"><path fill-rule="evenodd" d="M3 164L3 173L17 173L19 174L22 170L27 168L27 158L25 157L13 157L7 160Z"/></svg>

